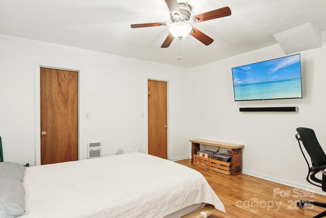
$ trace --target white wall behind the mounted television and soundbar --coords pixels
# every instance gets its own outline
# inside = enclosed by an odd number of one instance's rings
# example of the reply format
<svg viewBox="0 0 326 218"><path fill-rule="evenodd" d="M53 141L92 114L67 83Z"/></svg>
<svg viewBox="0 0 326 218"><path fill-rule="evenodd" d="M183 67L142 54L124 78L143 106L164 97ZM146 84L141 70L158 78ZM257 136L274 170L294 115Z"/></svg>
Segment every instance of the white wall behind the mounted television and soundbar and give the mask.
<svg viewBox="0 0 326 218"><path fill-rule="evenodd" d="M234 101L231 68L286 56L279 45L189 69L189 139L244 144L243 173L314 187L305 180L307 164L294 135L297 127L312 128L326 151L325 40L323 32L320 48L300 52L303 99ZM240 107L287 106L297 106L298 112L239 112Z"/></svg>

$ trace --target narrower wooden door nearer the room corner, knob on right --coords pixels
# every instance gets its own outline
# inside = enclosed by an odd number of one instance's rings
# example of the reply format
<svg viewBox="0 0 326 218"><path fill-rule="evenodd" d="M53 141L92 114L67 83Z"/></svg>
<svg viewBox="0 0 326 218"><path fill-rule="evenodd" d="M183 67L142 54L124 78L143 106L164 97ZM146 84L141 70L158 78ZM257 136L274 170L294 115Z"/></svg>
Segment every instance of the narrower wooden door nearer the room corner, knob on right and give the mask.
<svg viewBox="0 0 326 218"><path fill-rule="evenodd" d="M148 154L168 159L167 82L148 80Z"/></svg>

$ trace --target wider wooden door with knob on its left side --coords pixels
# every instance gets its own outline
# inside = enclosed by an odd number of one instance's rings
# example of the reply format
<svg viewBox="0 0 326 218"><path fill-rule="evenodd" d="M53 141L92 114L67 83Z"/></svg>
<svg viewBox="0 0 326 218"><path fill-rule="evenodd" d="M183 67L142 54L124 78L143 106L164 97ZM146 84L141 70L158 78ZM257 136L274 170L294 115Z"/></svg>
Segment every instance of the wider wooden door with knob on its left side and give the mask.
<svg viewBox="0 0 326 218"><path fill-rule="evenodd" d="M41 164L78 160L78 72L41 67Z"/></svg>

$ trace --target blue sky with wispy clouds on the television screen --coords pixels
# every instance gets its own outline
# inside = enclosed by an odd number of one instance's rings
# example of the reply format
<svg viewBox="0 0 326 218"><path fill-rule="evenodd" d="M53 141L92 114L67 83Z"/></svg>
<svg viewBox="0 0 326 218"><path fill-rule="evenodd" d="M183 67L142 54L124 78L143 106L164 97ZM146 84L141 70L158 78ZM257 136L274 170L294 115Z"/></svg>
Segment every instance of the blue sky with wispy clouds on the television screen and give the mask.
<svg viewBox="0 0 326 218"><path fill-rule="evenodd" d="M301 77L300 54L232 68L234 85L291 80Z"/></svg>

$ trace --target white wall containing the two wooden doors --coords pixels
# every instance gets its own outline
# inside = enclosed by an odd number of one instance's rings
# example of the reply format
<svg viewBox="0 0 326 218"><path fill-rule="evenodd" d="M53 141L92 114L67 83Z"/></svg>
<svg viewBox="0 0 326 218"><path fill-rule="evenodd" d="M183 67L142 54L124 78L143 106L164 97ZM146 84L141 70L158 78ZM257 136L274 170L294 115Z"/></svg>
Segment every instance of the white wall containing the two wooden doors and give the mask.
<svg viewBox="0 0 326 218"><path fill-rule="evenodd" d="M187 69L0 35L0 136L5 161L35 165L35 63L71 66L80 75L79 158L87 142L102 155L119 147L146 152L147 78L169 81L169 159L188 157ZM90 112L90 119L85 119Z"/></svg>

